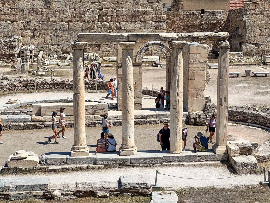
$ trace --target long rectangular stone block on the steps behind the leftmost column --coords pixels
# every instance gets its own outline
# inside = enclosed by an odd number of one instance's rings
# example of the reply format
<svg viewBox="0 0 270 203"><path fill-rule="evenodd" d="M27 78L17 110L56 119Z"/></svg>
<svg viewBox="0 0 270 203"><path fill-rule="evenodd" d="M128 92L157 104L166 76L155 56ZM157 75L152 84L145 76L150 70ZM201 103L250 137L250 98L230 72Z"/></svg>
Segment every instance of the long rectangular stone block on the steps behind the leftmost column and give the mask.
<svg viewBox="0 0 270 203"><path fill-rule="evenodd" d="M65 108L66 116L73 116L73 103L32 104L32 115L51 116L52 112L60 114L61 107ZM107 103L85 102L85 115L104 115L107 112Z"/></svg>

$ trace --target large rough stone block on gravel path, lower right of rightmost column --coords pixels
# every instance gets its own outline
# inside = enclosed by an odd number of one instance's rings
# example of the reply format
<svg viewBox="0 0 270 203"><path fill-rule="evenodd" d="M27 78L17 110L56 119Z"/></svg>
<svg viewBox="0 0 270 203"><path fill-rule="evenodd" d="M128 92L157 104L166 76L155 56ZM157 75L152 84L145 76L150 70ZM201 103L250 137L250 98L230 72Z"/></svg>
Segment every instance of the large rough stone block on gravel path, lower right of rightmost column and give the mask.
<svg viewBox="0 0 270 203"><path fill-rule="evenodd" d="M250 173L259 170L257 160L252 155L229 156L229 161L236 173Z"/></svg>

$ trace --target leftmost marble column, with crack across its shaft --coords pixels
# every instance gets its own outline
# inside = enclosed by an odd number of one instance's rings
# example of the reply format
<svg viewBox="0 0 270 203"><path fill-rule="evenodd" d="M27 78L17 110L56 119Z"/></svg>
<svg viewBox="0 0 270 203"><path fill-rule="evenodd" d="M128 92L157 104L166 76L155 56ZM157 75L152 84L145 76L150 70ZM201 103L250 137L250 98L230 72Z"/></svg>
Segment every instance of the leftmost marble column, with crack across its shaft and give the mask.
<svg viewBox="0 0 270 203"><path fill-rule="evenodd" d="M73 42L73 119L74 145L71 156L89 156L85 135L85 87L83 49L87 42Z"/></svg>

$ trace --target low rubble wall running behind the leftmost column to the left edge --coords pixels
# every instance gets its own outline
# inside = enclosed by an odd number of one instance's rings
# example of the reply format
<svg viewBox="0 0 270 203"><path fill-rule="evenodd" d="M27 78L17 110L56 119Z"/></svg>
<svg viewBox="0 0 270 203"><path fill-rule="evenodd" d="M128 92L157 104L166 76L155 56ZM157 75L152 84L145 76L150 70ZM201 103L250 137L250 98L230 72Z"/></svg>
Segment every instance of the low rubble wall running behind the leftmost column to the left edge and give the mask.
<svg viewBox="0 0 270 203"><path fill-rule="evenodd" d="M108 81L97 81L98 90L107 90ZM72 80L36 80L36 89L58 89L72 90ZM89 79L85 80L85 89L95 90L96 81ZM19 91L19 90L35 90L35 79L19 79L19 80L0 80L0 91Z"/></svg>

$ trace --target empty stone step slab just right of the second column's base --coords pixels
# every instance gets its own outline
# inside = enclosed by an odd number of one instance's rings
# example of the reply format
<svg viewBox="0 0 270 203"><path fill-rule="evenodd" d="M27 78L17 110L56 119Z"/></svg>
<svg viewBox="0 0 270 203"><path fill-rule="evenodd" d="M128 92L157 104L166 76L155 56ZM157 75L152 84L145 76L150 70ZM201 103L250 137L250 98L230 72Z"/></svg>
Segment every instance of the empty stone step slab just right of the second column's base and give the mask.
<svg viewBox="0 0 270 203"><path fill-rule="evenodd" d="M137 155L130 156L131 164L163 163L163 154L160 150L138 151Z"/></svg>

